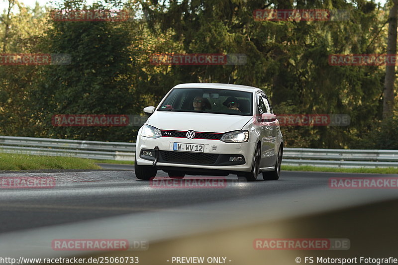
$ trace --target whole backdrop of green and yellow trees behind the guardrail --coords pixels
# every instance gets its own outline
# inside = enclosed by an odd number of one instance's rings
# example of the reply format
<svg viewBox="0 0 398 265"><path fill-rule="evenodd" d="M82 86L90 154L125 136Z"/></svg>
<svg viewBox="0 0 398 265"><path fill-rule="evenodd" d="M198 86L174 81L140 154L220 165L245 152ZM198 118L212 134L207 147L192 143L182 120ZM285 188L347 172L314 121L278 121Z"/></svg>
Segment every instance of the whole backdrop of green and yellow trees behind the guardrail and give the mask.
<svg viewBox="0 0 398 265"><path fill-rule="evenodd" d="M16 2L0 24L3 53L67 53L66 66L0 66L0 134L134 141L136 127L53 127L54 114L141 114L190 82L262 88L275 113L349 114L349 126L282 127L288 147L398 149L398 115L381 122L385 67L330 66L330 54L386 52L389 4L367 0L107 0L122 22L54 21ZM344 21L255 21L253 10L344 9ZM5 25L9 23L9 29ZM153 53L243 53L243 66L153 66Z"/></svg>

